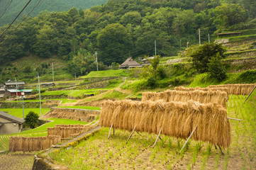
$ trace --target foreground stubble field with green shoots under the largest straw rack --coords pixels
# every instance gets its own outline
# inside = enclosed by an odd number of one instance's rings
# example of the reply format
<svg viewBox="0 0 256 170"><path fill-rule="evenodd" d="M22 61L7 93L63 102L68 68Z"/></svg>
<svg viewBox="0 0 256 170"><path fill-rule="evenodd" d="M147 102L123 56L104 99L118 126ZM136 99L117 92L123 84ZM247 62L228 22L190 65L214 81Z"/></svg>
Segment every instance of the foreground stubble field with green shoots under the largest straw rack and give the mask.
<svg viewBox="0 0 256 170"><path fill-rule="evenodd" d="M254 97L254 96L253 96ZM126 145L130 132L115 129L107 140L109 128L103 128L76 147L52 152L50 157L69 169L256 169L256 114L254 103L243 103L245 97L232 96L228 116L233 142L224 149L223 156L208 142L191 140L185 152L178 154L185 140L160 135L134 133Z"/></svg>

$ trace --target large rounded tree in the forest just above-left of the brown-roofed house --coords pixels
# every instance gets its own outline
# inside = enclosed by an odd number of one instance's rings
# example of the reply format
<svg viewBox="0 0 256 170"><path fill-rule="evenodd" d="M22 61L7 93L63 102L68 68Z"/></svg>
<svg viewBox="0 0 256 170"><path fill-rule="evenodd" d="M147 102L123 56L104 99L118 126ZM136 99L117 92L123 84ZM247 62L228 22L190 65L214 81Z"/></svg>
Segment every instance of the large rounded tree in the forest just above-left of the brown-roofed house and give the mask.
<svg viewBox="0 0 256 170"><path fill-rule="evenodd" d="M100 49L99 60L110 65L112 62L123 63L129 56L131 36L120 23L109 24L97 36Z"/></svg>

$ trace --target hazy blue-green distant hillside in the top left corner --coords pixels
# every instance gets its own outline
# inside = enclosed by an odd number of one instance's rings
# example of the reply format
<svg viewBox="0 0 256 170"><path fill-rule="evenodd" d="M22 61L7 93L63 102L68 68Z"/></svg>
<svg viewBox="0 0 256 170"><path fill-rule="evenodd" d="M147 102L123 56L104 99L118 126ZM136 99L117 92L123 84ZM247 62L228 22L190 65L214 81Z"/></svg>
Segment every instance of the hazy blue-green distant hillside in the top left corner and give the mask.
<svg viewBox="0 0 256 170"><path fill-rule="evenodd" d="M38 1L31 1L25 8L18 20L22 20L23 16L28 14L33 7L38 4ZM67 11L72 7L75 8L91 8L91 6L97 6L106 4L107 0L43 0L36 6L30 16L37 16L40 11ZM0 26L9 24L18 15L21 9L28 3L28 0L1 0L0 1Z"/></svg>

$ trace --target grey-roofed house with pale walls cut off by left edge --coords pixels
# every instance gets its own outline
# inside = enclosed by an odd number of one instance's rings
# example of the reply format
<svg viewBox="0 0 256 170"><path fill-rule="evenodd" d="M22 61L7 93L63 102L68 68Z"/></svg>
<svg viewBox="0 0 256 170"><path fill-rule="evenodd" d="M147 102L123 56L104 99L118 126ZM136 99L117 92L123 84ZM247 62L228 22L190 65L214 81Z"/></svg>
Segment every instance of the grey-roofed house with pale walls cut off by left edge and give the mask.
<svg viewBox="0 0 256 170"><path fill-rule="evenodd" d="M0 134L21 132L25 120L0 111Z"/></svg>

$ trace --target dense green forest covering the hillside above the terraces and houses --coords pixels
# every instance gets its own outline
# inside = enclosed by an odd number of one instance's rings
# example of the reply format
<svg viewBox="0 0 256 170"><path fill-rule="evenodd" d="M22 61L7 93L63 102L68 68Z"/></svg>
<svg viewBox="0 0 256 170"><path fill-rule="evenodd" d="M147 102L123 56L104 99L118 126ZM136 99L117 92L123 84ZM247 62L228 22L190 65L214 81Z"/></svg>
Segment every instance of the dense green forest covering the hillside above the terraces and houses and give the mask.
<svg viewBox="0 0 256 170"><path fill-rule="evenodd" d="M71 8L26 18L0 38L0 64L33 54L69 61L82 75L127 57L177 55L215 33L256 27L255 0L108 0L85 11ZM7 26L0 28L2 33ZM12 33L12 34L11 34ZM10 36L11 35L11 36Z"/></svg>

